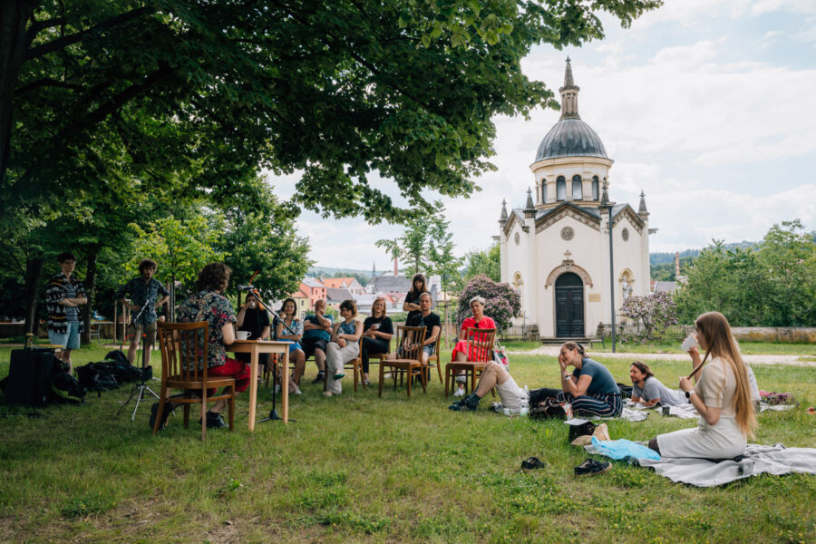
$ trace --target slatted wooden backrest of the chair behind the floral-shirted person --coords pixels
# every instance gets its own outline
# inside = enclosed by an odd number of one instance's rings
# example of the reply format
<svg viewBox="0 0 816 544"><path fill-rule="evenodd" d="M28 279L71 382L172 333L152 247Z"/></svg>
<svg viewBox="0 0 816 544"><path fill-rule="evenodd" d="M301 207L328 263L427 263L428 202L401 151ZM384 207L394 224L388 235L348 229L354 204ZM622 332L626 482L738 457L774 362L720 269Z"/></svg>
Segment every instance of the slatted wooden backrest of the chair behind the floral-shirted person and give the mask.
<svg viewBox="0 0 816 544"><path fill-rule="evenodd" d="M179 376L185 382L207 381L209 323L159 322L161 378Z"/></svg>

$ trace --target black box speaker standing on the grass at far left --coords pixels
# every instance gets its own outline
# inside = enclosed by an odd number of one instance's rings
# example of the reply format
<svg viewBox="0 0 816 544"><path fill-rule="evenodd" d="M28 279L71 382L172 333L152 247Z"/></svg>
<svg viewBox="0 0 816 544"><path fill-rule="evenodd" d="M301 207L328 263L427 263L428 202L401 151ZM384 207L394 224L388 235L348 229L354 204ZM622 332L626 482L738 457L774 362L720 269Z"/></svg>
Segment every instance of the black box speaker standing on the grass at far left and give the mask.
<svg viewBox="0 0 816 544"><path fill-rule="evenodd" d="M53 349L12 350L5 387L9 406L44 406L51 396Z"/></svg>

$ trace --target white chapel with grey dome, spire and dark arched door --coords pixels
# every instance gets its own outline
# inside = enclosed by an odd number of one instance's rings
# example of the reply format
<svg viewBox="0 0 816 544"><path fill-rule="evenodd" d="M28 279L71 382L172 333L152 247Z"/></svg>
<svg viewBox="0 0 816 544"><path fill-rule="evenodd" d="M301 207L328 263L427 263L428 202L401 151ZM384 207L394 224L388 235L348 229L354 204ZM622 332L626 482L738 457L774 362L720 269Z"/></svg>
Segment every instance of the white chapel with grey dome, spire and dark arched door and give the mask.
<svg viewBox="0 0 816 544"><path fill-rule="evenodd" d="M501 281L519 290L521 310L542 340L591 337L611 322L613 293L617 314L626 297L649 292L645 195L637 211L610 202L613 160L578 115L569 59L559 91L561 117L530 165L535 197L528 189L524 209L510 211L502 201L499 220Z"/></svg>

